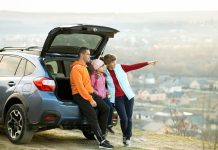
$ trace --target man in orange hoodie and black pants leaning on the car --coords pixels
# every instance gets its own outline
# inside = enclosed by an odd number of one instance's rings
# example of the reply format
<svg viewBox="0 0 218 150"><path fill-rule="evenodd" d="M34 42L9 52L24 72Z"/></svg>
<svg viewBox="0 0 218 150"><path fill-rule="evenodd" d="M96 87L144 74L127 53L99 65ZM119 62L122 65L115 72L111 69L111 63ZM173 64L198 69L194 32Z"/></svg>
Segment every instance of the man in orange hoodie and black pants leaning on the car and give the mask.
<svg viewBox="0 0 218 150"><path fill-rule="evenodd" d="M105 139L109 107L94 94L86 66L86 63L90 61L90 50L81 47L78 55L79 59L71 64L70 72L73 99L88 119L99 143L99 148L112 149L113 146ZM94 108L98 109L98 116Z"/></svg>

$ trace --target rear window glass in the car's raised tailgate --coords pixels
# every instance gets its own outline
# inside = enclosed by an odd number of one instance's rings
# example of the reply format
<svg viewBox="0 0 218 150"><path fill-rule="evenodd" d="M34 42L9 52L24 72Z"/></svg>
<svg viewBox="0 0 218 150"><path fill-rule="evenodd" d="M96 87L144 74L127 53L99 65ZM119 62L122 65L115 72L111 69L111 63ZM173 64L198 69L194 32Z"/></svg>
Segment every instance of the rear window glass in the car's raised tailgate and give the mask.
<svg viewBox="0 0 218 150"><path fill-rule="evenodd" d="M52 42L49 52L76 54L78 48L88 47L95 51L102 41L102 37L93 34L59 34Z"/></svg>

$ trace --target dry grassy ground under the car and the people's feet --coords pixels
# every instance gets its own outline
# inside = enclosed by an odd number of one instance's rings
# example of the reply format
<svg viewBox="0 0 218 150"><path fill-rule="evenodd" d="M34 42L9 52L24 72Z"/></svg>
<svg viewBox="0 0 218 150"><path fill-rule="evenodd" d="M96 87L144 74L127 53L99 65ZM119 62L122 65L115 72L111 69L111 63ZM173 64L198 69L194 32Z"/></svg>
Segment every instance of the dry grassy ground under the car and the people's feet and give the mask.
<svg viewBox="0 0 218 150"><path fill-rule="evenodd" d="M175 135L163 135L134 129L131 147L123 147L121 133L118 127L115 135L109 135L108 139L115 146L115 150L199 150L202 149L200 140ZM32 142L26 145L13 145L0 133L1 150L72 150L72 149L96 149L95 141L86 140L80 131L49 130L37 133ZM208 143L206 143L208 147ZM208 147L209 148L209 147Z"/></svg>

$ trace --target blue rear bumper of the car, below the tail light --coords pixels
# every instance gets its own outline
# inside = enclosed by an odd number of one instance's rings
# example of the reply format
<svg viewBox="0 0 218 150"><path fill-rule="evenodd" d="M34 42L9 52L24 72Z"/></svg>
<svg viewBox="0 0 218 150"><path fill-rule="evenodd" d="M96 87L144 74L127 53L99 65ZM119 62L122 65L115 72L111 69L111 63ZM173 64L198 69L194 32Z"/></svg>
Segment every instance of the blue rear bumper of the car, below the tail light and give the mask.
<svg viewBox="0 0 218 150"><path fill-rule="evenodd" d="M77 104L59 101L54 93L39 92L38 94L37 99L29 100L28 120L30 124L37 126L73 126L86 123ZM55 120L52 120L52 117ZM51 120L49 121L49 119Z"/></svg>

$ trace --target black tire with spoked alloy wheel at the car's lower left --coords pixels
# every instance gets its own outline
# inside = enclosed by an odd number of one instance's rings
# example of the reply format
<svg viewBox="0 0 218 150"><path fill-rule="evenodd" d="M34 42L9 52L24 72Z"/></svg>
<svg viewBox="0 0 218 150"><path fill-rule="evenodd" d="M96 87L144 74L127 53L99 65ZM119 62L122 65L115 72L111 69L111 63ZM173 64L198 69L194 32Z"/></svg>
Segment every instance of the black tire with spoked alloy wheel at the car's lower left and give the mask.
<svg viewBox="0 0 218 150"><path fill-rule="evenodd" d="M27 115L22 104L11 106L5 117L5 132L14 144L25 144L32 140L34 131L29 129Z"/></svg>

